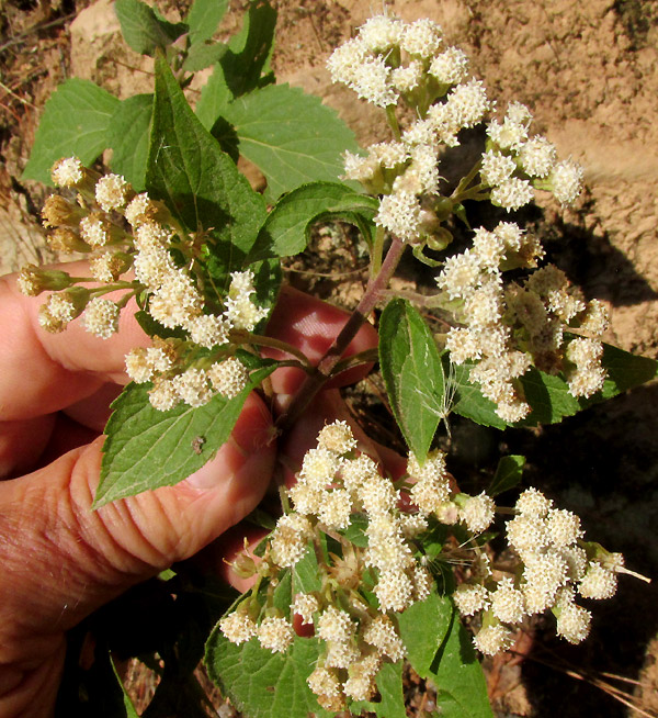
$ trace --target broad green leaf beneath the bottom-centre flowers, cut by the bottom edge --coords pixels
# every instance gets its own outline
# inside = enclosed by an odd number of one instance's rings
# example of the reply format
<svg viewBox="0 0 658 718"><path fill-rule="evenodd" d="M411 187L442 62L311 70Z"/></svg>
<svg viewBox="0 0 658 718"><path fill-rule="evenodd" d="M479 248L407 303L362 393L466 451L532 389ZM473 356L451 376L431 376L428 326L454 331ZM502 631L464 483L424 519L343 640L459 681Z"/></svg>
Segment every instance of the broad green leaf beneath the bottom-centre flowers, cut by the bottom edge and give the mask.
<svg viewBox="0 0 658 718"><path fill-rule="evenodd" d="M295 637L285 653L272 653L256 639L230 643L218 628L206 643L211 678L249 718L329 718L306 684L322 652L318 639Z"/></svg>

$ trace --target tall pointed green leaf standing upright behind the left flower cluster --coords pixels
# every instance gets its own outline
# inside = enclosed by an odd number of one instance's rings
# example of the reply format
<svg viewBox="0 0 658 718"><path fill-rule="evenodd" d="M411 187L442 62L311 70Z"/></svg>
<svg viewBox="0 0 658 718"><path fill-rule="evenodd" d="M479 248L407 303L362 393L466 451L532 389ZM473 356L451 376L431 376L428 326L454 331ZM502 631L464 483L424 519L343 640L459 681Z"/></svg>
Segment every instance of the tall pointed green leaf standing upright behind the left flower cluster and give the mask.
<svg viewBox="0 0 658 718"><path fill-rule="evenodd" d="M265 218L263 198L194 115L161 56L146 184L190 232L207 231L227 271L241 268Z"/></svg>

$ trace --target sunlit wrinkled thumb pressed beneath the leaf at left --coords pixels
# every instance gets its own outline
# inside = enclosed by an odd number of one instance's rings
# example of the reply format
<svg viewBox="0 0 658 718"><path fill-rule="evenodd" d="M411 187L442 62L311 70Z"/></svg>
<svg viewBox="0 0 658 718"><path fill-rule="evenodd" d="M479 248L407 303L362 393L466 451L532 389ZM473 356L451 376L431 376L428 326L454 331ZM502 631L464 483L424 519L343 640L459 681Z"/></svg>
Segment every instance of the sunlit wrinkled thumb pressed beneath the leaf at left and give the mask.
<svg viewBox="0 0 658 718"><path fill-rule="evenodd" d="M27 637L67 630L243 518L272 474L270 428L252 394L229 441L189 479L95 512L102 437L0 483L0 565L11 576L0 585L0 646L20 652Z"/></svg>

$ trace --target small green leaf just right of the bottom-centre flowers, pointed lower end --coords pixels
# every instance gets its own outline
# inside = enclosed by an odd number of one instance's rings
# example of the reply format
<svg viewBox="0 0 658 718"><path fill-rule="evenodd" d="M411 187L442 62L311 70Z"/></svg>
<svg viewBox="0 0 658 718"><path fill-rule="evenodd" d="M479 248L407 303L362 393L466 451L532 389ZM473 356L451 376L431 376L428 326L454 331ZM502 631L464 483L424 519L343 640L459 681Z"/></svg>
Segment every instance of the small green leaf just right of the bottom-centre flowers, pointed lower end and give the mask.
<svg viewBox="0 0 658 718"><path fill-rule="evenodd" d="M407 660L420 675L427 678L430 674L436 651L443 643L452 622L452 605L436 593L412 604L398 616L400 638L407 649Z"/></svg>

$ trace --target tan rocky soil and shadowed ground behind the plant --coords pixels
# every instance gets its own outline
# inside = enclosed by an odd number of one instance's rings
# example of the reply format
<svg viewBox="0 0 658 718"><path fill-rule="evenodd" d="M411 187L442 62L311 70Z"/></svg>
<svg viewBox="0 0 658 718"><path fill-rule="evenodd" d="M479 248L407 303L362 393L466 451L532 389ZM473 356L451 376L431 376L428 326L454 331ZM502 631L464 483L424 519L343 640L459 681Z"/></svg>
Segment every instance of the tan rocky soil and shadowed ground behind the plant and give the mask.
<svg viewBox="0 0 658 718"><path fill-rule="evenodd" d="M175 16L183 0L159 7ZM226 30L247 2L234 0ZM382 119L340 88L324 67L332 47L370 11L366 0L277 0L274 66L280 81L319 93L363 144L381 139ZM89 7L88 7L89 5ZM0 269L47 256L37 213L44 190L20 179L43 104L66 77L87 77L126 97L148 90L149 60L118 43L112 3L4 0L0 15ZM472 58L500 108L527 104L535 131L586 169L587 191L571 211L547 202L532 222L551 259L589 298L605 300L612 344L658 357L658 5L651 0L396 0L405 20L429 16ZM321 239L319 240L321 242ZM319 245L321 246L321 245ZM325 273L318 251L310 266ZM308 265L307 265L308 267ZM331 268L329 268L331 271ZM292 274L293 277L293 274ZM295 281L308 283L304 274ZM407 278L415 282L418 278ZM350 301L340 277L321 291ZM583 516L586 528L627 565L658 576L658 386L649 385L542 431L502 436L454 423L452 451L475 470L500 450L524 452L529 481ZM484 447L477 456L467 450ZM658 716L655 587L622 582L598 606L594 632L565 646L541 625L519 655L488 664L500 716ZM636 714L612 693L636 705Z"/></svg>

